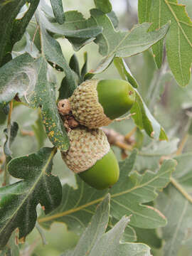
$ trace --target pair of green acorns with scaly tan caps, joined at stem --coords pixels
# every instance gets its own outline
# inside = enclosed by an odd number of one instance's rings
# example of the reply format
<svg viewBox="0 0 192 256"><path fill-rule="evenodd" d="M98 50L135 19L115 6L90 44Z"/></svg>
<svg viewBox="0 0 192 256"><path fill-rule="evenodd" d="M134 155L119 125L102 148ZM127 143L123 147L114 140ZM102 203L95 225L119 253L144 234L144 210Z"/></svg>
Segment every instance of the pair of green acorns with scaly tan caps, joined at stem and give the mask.
<svg viewBox="0 0 192 256"><path fill-rule="evenodd" d="M67 124L70 149L61 151L65 164L97 189L110 188L119 179L119 165L105 133L99 127L128 112L135 100L124 80L86 80L58 111Z"/></svg>

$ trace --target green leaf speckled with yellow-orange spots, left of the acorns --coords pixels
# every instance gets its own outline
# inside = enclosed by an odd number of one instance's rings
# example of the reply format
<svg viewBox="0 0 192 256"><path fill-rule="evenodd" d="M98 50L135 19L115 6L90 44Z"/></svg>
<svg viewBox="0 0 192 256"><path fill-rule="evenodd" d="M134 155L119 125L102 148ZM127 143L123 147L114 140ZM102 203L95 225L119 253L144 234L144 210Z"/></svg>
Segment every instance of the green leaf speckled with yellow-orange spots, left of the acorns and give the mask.
<svg viewBox="0 0 192 256"><path fill-rule="evenodd" d="M36 69L32 75L36 79L35 86L26 95L26 104L33 108L41 107L43 124L50 142L58 149L66 151L69 147L68 136L55 104L55 87L47 80L46 60L40 57L34 65Z"/></svg>

